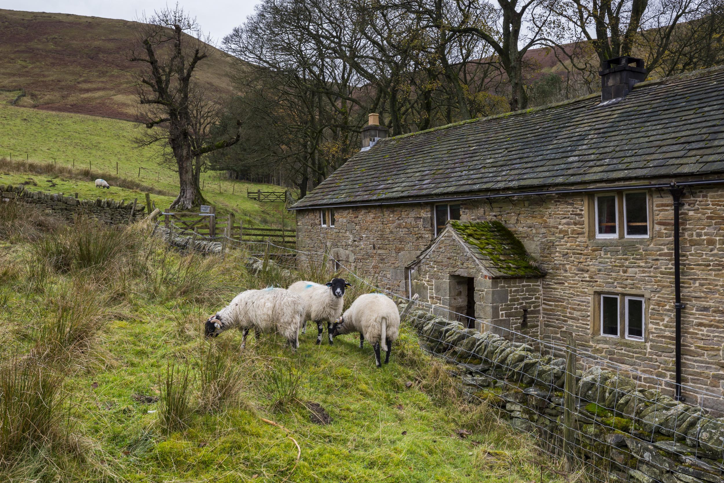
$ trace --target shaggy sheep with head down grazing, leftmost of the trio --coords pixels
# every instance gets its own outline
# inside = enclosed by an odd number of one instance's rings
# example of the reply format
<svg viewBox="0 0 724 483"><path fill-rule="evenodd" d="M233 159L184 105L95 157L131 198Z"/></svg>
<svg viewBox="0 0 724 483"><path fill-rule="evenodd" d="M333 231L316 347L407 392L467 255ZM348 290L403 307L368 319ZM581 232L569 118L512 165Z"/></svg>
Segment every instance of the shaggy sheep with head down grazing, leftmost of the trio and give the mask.
<svg viewBox="0 0 724 483"><path fill-rule="evenodd" d="M238 327L243 331L241 347L253 328L258 339L262 332L279 332L292 349L299 347L299 327L304 317L304 299L284 288L246 290L206 320L206 337Z"/></svg>

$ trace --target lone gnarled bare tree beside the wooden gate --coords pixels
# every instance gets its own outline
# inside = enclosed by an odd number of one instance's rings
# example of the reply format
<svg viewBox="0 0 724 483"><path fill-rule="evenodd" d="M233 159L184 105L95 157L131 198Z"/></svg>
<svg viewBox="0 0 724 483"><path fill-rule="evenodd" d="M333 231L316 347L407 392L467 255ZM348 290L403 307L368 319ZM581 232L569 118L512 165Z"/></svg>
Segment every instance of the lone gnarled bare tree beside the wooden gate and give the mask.
<svg viewBox="0 0 724 483"><path fill-rule="evenodd" d="M216 117L214 109L209 109L213 103L204 100L202 91L194 87L193 75L199 62L213 54L209 37L178 4L139 21L130 54L131 62L143 66L135 83L141 106L139 118L148 129L167 127L158 139L166 140L172 151L180 185L171 208L191 209L203 204L194 161L198 167L204 154L239 140L237 133L233 138L206 142L206 133ZM197 170L200 172L200 167Z"/></svg>

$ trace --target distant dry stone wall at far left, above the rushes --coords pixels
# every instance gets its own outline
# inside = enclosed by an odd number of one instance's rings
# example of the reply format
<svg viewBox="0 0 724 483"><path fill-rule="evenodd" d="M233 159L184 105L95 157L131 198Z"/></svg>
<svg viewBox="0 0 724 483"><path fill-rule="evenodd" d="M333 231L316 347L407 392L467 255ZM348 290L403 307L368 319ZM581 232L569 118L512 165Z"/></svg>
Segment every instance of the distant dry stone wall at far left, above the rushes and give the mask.
<svg viewBox="0 0 724 483"><path fill-rule="evenodd" d="M114 201L96 198L95 200L79 200L73 196L64 196L63 193L45 193L31 191L24 185L0 185L2 201L18 201L32 204L38 209L62 217L67 222L73 222L78 215L97 219L106 224L125 224L146 216L146 206L133 202Z"/></svg>

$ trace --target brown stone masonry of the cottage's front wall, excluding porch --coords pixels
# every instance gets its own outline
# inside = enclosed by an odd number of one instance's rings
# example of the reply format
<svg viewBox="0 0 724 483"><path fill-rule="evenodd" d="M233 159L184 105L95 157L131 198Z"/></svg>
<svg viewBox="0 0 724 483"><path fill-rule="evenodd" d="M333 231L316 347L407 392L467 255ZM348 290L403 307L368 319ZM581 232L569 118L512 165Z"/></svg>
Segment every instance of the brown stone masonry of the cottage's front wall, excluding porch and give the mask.
<svg viewBox="0 0 724 483"><path fill-rule="evenodd" d="M652 377L672 381L674 366L673 206L667 190L650 190L651 236L596 240L592 201L572 193L463 203L461 218L497 219L509 227L547 275L542 278L538 337L579 348ZM320 227L319 211L298 217L301 250L336 248L379 286L406 295L403 267L432 241L432 205L337 209L337 226ZM724 410L724 188L687 189L681 206L683 389L687 403ZM645 298L643 341L603 337L596 327L597 296ZM511 314L511 319L515 317ZM494 322L492 322L495 324ZM662 387L670 391L671 387ZM710 392L712 396L702 395ZM700 400L701 399L701 400Z"/></svg>

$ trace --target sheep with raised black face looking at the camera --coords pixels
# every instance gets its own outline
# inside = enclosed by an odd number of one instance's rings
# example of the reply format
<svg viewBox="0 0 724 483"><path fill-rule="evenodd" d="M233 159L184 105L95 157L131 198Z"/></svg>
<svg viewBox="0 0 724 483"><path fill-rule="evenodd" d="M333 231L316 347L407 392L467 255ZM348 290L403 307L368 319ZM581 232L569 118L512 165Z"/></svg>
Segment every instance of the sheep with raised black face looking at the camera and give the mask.
<svg viewBox="0 0 724 483"><path fill-rule="evenodd" d="M349 286L350 284L343 278L333 278L325 285L302 280L289 286L289 290L298 293L306 301L302 333L307 332L308 320L313 320L317 324L317 345L321 344L321 324L325 321L327 322L329 345L333 344L332 323L342 314L342 308L345 305L345 288Z"/></svg>

